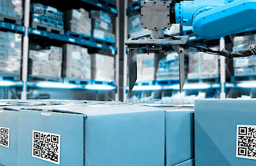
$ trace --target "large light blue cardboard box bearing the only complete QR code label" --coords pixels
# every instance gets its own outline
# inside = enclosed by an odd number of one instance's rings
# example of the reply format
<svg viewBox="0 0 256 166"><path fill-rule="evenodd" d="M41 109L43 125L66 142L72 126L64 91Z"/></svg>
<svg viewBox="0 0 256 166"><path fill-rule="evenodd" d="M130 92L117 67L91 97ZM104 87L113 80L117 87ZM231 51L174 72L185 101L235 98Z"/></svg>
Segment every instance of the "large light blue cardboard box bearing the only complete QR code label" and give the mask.
<svg viewBox="0 0 256 166"><path fill-rule="evenodd" d="M164 165L164 110L126 104L49 108L19 111L19 165L56 165L32 156L33 130L60 135L60 165Z"/></svg>

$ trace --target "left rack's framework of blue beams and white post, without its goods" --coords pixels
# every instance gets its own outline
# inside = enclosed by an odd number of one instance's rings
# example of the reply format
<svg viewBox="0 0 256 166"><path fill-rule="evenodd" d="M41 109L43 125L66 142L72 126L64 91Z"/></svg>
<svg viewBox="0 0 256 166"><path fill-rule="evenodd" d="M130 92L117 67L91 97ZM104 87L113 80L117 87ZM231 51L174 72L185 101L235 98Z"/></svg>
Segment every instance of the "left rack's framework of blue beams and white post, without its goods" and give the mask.
<svg viewBox="0 0 256 166"><path fill-rule="evenodd" d="M93 48L93 49L100 49L100 50L109 50L111 54L115 55L116 58L116 66L118 66L119 61L118 58L118 49L116 49L116 43L107 44L103 42L95 42L92 38L84 39L84 38L77 38L74 36L67 36L61 35L56 33L51 33L48 31L42 31L39 29L34 29L29 27L29 16L30 16L30 4L31 2L40 2L33 1L33 0L24 0L24 25L18 26L16 24L11 24L8 22L0 22L0 29L4 31L12 31L14 33L23 34L22 40L22 80L21 81L13 81L13 80L0 80L0 87L18 87L22 89L21 98L25 100L27 98L27 90L28 88L35 88L35 89L79 89L79 90L90 90L90 91L115 91L116 96L118 96L118 91L116 88L118 86L118 74L116 74L116 84L115 82L108 82L108 81L90 81L88 84L68 84L67 82L31 82L28 80L28 51L29 51L29 38L31 36L36 36L42 40L54 40L56 42L61 43L72 43L75 45L81 45L83 47ZM105 0L76 0L79 3L79 7L89 6L93 10L103 10L109 13L113 13L118 19L118 10L117 5L114 3L109 3ZM60 6L59 4L64 4L63 6L68 6L70 2L68 1L44 1L44 3L53 4L53 6ZM55 4L54 4L55 3ZM75 2L74 2L75 3ZM74 4L73 3L73 4ZM118 3L118 1L117 1ZM118 22L116 22L118 23ZM116 32L119 31L119 26L116 25ZM116 33L116 38L118 38L118 33Z"/></svg>

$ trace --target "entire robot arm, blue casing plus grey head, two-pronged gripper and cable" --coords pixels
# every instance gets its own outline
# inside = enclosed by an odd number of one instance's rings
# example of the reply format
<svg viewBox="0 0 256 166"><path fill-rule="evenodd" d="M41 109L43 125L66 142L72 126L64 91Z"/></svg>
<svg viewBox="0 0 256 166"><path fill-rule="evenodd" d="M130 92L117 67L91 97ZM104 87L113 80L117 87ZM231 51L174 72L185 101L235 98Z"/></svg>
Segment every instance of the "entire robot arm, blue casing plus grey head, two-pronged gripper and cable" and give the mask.
<svg viewBox="0 0 256 166"><path fill-rule="evenodd" d="M192 26L193 32L205 39L217 39L248 28L256 27L256 0L194 0L141 1L141 27L149 29L145 36L131 36L125 45L129 57L129 90L137 79L136 52L146 47L147 52L163 53L172 47L179 54L180 92L184 86L184 46L225 57L244 57L256 54L256 47L250 50L220 52L187 43L188 36L165 36L164 29L172 24Z"/></svg>

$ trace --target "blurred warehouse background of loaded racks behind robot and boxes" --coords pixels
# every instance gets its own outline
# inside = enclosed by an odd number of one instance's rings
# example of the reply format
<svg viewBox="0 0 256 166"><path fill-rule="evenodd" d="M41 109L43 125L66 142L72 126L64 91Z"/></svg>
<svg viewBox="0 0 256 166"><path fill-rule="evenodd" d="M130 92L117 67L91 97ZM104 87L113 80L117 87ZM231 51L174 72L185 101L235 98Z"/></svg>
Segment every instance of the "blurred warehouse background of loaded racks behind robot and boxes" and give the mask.
<svg viewBox="0 0 256 166"><path fill-rule="evenodd" d="M166 34L214 50L255 47L256 29L204 40L173 24ZM138 81L127 87L129 36L143 36L140 3L131 0L0 0L0 99L117 100L184 104L198 98L256 98L256 57L235 59L186 50L179 56L138 53ZM222 76L222 77L221 77Z"/></svg>

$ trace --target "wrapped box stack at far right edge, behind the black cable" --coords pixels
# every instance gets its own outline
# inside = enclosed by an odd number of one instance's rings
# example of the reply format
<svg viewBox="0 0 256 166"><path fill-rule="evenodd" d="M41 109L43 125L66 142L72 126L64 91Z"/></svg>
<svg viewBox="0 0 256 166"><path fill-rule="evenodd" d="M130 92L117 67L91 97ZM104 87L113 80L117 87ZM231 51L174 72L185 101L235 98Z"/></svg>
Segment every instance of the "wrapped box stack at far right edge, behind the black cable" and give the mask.
<svg viewBox="0 0 256 166"><path fill-rule="evenodd" d="M234 38L233 51L248 50L255 47L256 35L237 36ZM256 56L234 58L235 76L256 75Z"/></svg>

